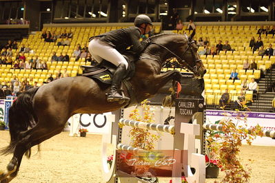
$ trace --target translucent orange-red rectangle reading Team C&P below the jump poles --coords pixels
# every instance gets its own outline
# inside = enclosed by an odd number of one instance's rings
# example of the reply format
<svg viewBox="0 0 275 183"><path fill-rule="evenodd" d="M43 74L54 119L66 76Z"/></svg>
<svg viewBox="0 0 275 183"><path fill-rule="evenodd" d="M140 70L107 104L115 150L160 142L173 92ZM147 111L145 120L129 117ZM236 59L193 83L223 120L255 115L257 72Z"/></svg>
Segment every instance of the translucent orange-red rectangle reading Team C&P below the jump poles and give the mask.
<svg viewBox="0 0 275 183"><path fill-rule="evenodd" d="M182 157L187 164L187 150L116 150L116 154L116 167L123 172L120 177L175 177L173 166L181 164Z"/></svg>

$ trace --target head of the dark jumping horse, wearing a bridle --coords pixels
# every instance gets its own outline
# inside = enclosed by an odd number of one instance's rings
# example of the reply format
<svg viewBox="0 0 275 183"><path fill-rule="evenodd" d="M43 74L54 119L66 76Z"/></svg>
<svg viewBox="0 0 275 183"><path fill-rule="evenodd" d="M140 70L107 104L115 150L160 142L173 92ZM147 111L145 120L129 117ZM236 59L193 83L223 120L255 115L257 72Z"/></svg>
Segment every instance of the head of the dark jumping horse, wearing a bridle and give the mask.
<svg viewBox="0 0 275 183"><path fill-rule="evenodd" d="M203 78L203 75L206 73L206 69L201 61L200 56L198 55L198 47L193 40L195 30L190 36L186 34L183 35L183 41L179 46L179 57L177 60L183 67L187 68L194 73L195 78Z"/></svg>

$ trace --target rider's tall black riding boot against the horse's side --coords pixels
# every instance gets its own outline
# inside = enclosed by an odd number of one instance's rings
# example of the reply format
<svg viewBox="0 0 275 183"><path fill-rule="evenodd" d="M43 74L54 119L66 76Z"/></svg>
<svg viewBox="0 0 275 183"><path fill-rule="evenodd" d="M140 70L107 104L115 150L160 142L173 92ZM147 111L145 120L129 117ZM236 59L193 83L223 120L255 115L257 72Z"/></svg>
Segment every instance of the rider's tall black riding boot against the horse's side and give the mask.
<svg viewBox="0 0 275 183"><path fill-rule="evenodd" d="M116 72L114 72L114 76L112 78L111 89L107 94L108 102L112 103L114 101L119 101L119 100L130 100L130 98L128 98L127 96L123 97L118 92L121 86L121 80L123 79L123 76L125 76L126 71L127 70L124 64L120 64L116 68Z"/></svg>

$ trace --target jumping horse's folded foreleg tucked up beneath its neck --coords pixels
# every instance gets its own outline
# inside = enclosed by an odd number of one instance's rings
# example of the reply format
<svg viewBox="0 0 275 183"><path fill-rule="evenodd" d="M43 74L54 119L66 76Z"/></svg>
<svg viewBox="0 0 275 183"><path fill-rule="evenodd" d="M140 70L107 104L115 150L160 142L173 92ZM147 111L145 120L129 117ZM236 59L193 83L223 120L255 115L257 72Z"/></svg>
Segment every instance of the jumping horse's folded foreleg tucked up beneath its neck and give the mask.
<svg viewBox="0 0 275 183"><path fill-rule="evenodd" d="M163 74L156 75L154 78L154 83L156 83L156 85L152 86L154 94L170 80L176 80L181 83L181 72L179 72L178 70L172 70Z"/></svg>

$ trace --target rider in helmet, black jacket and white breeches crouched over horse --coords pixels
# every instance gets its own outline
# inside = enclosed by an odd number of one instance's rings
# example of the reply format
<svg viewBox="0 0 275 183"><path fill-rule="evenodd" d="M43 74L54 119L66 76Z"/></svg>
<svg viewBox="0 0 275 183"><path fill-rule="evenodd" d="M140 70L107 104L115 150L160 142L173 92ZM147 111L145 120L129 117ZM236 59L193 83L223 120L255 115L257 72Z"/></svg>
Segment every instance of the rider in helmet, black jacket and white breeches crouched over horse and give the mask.
<svg viewBox="0 0 275 183"><path fill-rule="evenodd" d="M117 67L112 78L111 89L107 93L108 102L121 99L130 100L130 98L123 97L118 92L121 80L128 69L128 62L120 52L132 46L132 51L140 54L150 44L150 39L140 42L140 36L150 32L151 28L152 21L150 17L140 14L134 19L134 27L112 30L90 39L89 52L92 57L98 63L101 63L104 59Z"/></svg>

